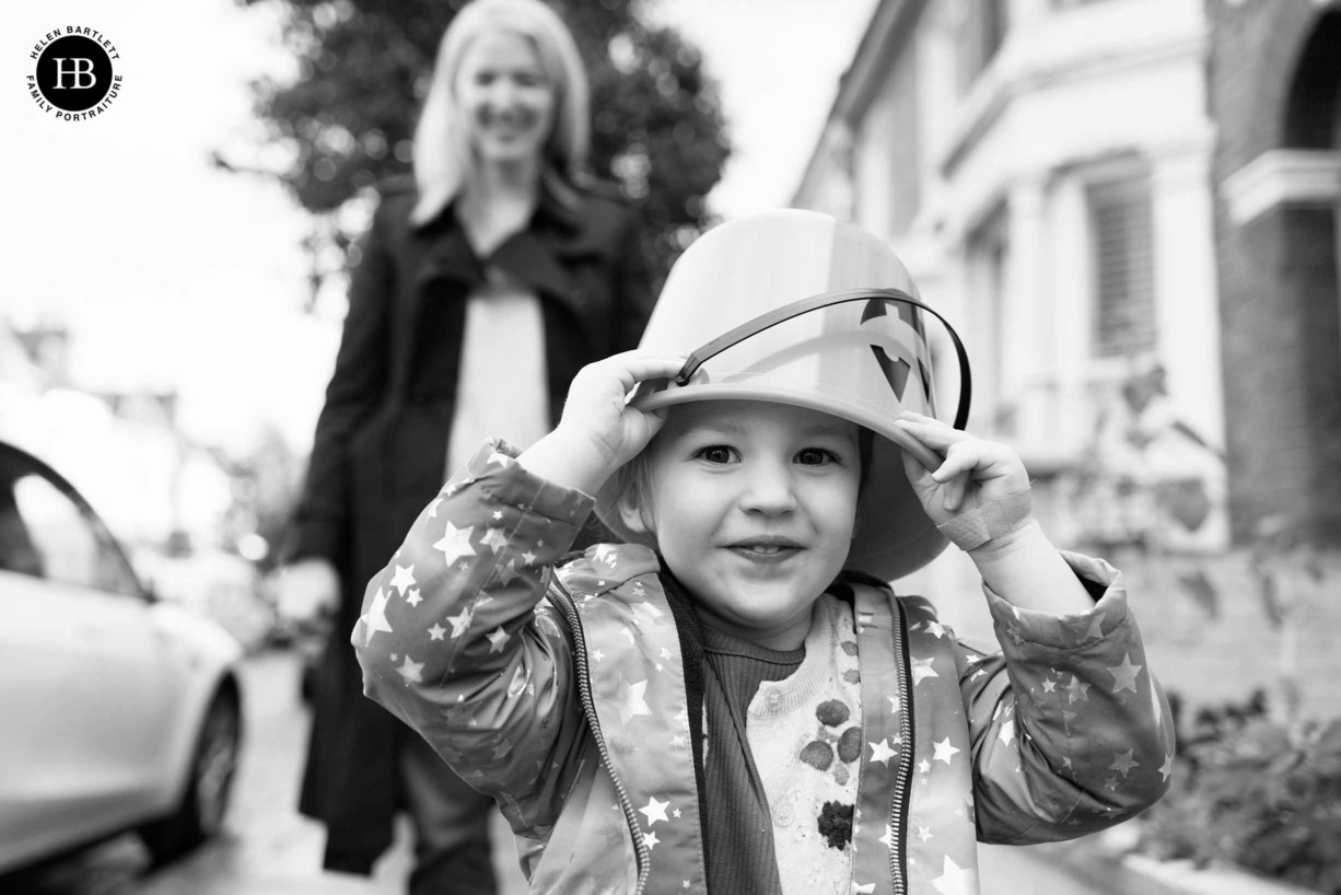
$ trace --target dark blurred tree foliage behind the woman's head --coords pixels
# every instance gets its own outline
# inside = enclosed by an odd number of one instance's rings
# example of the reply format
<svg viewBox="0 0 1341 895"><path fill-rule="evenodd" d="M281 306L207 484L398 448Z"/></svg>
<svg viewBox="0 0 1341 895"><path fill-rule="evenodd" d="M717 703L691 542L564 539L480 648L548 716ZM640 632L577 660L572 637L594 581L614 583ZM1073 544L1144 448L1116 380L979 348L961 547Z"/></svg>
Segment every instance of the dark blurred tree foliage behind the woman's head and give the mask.
<svg viewBox="0 0 1341 895"><path fill-rule="evenodd" d="M291 82L257 81L255 109L278 177L327 224L382 178L408 173L437 43L465 0L240 0L283 9ZM716 86L675 30L641 4L550 0L574 32L591 81L591 170L636 200L645 251L664 274L708 223L704 196L730 154ZM221 162L227 166L227 162ZM315 247L312 247L315 250Z"/></svg>

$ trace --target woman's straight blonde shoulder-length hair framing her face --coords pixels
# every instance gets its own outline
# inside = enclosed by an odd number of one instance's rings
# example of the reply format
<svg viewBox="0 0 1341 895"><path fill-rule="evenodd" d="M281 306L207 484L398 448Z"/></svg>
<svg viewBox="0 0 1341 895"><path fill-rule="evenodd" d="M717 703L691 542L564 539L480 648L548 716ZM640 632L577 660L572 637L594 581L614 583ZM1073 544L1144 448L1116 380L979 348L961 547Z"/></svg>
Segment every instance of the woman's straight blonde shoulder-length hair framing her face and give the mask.
<svg viewBox="0 0 1341 895"><path fill-rule="evenodd" d="M432 220L461 191L473 158L468 122L453 95L465 50L481 34L518 34L535 47L540 68L554 89L554 129L544 145L542 178L561 200L574 197L573 184L586 173L590 146L590 97L586 68L573 34L540 0L473 0L443 34L424 110L414 129L416 224Z"/></svg>

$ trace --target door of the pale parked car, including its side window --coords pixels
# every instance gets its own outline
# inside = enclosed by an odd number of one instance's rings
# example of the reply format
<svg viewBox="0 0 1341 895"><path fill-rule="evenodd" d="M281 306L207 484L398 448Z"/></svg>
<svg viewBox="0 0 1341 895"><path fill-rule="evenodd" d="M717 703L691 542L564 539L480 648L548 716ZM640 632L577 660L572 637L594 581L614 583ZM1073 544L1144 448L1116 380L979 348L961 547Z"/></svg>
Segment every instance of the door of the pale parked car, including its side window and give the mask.
<svg viewBox="0 0 1341 895"><path fill-rule="evenodd" d="M0 844L59 845L143 816L170 692L150 612L68 483L0 450Z"/></svg>

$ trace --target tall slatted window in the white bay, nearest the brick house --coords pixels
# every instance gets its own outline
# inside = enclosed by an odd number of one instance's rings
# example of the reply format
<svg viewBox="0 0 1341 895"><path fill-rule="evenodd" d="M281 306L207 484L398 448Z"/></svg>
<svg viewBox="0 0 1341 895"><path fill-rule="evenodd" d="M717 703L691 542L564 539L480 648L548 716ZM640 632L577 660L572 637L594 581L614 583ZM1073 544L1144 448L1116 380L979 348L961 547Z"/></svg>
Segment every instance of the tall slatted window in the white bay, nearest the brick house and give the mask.
<svg viewBox="0 0 1341 895"><path fill-rule="evenodd" d="M1098 357L1155 348L1151 177L1139 170L1089 184L1093 345Z"/></svg>

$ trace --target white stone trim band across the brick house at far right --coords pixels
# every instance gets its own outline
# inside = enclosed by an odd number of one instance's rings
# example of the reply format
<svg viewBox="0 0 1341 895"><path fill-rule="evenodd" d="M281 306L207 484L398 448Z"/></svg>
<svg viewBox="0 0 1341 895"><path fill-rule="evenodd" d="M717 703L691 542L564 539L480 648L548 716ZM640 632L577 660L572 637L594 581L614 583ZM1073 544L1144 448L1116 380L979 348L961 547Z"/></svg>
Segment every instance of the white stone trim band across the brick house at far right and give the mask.
<svg viewBox="0 0 1341 895"><path fill-rule="evenodd" d="M1341 152L1269 149L1226 177L1220 195L1239 225L1281 205L1341 204Z"/></svg>

